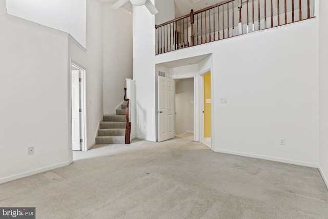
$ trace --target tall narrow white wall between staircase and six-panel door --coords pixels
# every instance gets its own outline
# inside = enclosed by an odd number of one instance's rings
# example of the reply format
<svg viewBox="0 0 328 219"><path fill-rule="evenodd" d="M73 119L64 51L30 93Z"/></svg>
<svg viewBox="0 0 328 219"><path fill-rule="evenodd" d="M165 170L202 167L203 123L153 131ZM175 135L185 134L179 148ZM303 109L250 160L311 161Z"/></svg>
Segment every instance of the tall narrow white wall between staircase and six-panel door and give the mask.
<svg viewBox="0 0 328 219"><path fill-rule="evenodd" d="M152 1L154 3L154 1ZM133 7L133 79L136 81L136 137L156 141L155 20L146 7Z"/></svg>

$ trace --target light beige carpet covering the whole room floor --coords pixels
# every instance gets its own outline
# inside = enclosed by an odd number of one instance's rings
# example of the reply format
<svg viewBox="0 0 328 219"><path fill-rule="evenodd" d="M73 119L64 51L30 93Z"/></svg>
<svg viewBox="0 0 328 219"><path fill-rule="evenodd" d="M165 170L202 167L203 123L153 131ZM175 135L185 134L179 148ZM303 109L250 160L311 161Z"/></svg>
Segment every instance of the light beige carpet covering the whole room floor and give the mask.
<svg viewBox="0 0 328 219"><path fill-rule="evenodd" d="M190 136L74 158L0 185L0 206L36 207L36 218L328 218L317 169L215 153Z"/></svg>

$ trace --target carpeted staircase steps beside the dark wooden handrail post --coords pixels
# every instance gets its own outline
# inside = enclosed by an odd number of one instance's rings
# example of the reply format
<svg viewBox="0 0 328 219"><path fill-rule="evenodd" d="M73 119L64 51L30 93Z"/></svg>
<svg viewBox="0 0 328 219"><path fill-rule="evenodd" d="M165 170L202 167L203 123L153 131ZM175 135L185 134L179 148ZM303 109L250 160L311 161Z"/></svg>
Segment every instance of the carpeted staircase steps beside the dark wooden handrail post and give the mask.
<svg viewBox="0 0 328 219"><path fill-rule="evenodd" d="M103 122L100 122L96 144L117 144L125 143L126 116L125 108L122 104L121 109L116 110L116 115L104 115Z"/></svg>

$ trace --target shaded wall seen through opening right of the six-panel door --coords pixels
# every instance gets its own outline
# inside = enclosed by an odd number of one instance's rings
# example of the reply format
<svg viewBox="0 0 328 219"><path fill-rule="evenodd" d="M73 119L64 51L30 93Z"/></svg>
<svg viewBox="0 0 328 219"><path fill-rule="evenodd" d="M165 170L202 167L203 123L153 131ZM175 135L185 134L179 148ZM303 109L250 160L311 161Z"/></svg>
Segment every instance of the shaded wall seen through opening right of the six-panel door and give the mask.
<svg viewBox="0 0 328 219"><path fill-rule="evenodd" d="M175 133L194 131L194 78L177 79L175 84Z"/></svg>

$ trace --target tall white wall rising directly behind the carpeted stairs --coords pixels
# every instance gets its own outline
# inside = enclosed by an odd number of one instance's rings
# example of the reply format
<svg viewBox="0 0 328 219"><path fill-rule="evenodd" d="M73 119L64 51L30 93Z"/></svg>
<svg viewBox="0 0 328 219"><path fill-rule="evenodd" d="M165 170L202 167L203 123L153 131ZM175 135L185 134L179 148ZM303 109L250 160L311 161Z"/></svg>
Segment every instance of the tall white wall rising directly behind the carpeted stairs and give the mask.
<svg viewBox="0 0 328 219"><path fill-rule="evenodd" d="M123 101L125 78L132 78L132 14L111 6L103 8L105 114L115 114Z"/></svg>

